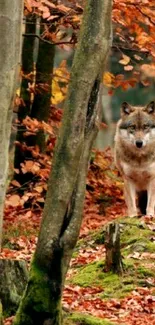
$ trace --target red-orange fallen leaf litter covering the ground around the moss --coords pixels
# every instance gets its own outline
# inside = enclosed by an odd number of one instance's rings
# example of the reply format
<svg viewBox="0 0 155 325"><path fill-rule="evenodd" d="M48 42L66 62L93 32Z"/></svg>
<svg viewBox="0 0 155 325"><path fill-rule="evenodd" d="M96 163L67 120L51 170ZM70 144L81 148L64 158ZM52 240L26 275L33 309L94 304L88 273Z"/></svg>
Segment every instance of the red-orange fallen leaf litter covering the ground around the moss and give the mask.
<svg viewBox="0 0 155 325"><path fill-rule="evenodd" d="M45 160L47 162L47 159ZM27 168L26 166L24 165L24 168ZM23 172L25 171L24 169ZM34 172L38 174L38 169ZM39 205L36 202L38 198L44 201L47 178L48 173L44 179L41 176L39 182L36 182L35 186L33 184L33 191L29 188L22 196L18 192L19 183L11 184L11 189L15 188L16 192L6 196L4 244L0 258L24 259L29 265L36 247L43 209L42 202ZM104 242L98 244L95 234L107 223L118 220L118 217L122 218L125 214L123 184L113 165L111 150L94 150L87 177L83 222L67 274L63 308L70 312L78 311L107 318L115 324L155 325L155 282L151 275L147 276L142 287L137 285L123 298L104 299L101 297L103 286L82 287L71 282L81 266L104 261ZM154 242L153 219L145 216L141 223L151 232L150 241ZM143 266L147 262L147 267L152 270L154 257L154 252L133 251L128 252L126 259L137 261ZM12 320L12 317L6 319L5 325L12 324Z"/></svg>

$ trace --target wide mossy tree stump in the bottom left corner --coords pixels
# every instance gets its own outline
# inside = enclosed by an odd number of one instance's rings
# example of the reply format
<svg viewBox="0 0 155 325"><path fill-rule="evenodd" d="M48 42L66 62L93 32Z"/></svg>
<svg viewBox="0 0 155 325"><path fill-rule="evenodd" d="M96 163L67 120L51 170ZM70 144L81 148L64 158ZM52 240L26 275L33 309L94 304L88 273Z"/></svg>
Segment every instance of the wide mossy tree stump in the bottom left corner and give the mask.
<svg viewBox="0 0 155 325"><path fill-rule="evenodd" d="M0 300L7 316L16 312L27 279L25 261L0 259Z"/></svg>

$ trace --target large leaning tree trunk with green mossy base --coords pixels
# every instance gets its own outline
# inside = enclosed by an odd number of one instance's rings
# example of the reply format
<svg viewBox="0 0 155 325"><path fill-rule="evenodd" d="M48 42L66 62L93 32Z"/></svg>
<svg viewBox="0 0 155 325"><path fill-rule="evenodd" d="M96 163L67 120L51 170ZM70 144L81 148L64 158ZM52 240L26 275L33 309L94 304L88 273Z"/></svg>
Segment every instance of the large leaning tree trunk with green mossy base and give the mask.
<svg viewBox="0 0 155 325"><path fill-rule="evenodd" d="M110 45L111 0L87 0L28 286L14 325L60 325L61 296L82 219L97 133L100 76Z"/></svg>

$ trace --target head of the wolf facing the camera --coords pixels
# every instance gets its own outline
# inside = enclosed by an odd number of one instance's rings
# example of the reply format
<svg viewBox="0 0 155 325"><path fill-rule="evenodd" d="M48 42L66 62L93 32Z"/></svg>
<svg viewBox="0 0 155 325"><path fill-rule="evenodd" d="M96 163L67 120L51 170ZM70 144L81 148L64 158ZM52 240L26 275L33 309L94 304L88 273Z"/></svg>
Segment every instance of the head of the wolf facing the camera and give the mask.
<svg viewBox="0 0 155 325"><path fill-rule="evenodd" d="M155 102L144 107L124 102L118 132L123 141L138 150L155 142Z"/></svg>

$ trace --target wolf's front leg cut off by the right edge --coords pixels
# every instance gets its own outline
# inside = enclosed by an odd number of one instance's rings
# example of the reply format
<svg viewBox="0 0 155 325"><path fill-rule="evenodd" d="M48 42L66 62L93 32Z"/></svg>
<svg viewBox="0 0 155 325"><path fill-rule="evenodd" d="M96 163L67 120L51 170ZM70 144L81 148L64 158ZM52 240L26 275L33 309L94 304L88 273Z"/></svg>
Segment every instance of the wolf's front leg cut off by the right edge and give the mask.
<svg viewBox="0 0 155 325"><path fill-rule="evenodd" d="M148 216L155 215L155 180L150 181L147 188L147 207L146 214Z"/></svg>

